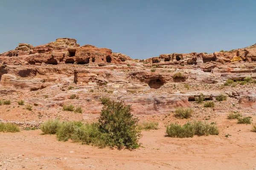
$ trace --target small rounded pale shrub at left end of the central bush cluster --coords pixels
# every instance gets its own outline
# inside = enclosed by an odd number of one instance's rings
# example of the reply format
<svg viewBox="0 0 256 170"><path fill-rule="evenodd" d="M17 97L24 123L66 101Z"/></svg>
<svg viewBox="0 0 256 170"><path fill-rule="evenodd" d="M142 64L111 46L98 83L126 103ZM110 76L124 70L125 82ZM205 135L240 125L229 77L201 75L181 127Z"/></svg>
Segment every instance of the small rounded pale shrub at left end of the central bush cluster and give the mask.
<svg viewBox="0 0 256 170"><path fill-rule="evenodd" d="M55 134L57 133L60 125L61 123L59 119L47 120L46 122L42 123L40 129L43 131L44 134Z"/></svg>

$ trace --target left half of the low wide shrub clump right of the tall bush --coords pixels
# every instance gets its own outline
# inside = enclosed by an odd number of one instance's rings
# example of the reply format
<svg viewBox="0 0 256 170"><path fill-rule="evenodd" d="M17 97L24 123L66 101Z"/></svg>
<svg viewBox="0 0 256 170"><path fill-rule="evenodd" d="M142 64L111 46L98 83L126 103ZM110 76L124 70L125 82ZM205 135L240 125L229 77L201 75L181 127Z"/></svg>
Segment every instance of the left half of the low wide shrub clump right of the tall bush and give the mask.
<svg viewBox="0 0 256 170"><path fill-rule="evenodd" d="M189 138L195 135L195 129L193 125L185 124L183 126L172 123L166 127L166 136L172 138Z"/></svg>

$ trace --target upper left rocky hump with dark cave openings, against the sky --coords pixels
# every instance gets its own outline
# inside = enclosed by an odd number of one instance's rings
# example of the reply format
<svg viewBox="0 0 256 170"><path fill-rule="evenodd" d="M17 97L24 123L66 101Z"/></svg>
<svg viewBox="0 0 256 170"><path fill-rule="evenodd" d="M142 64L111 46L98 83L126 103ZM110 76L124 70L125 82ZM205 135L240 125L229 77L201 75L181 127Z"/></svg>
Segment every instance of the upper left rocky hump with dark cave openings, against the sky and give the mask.
<svg viewBox="0 0 256 170"><path fill-rule="evenodd" d="M0 54L0 62L14 65L57 65L61 62L84 65L94 62L122 63L126 60L132 59L125 54L112 54L108 48L97 48L93 45L80 47L76 40L71 38L58 38L55 42L36 47L22 43L15 50Z"/></svg>

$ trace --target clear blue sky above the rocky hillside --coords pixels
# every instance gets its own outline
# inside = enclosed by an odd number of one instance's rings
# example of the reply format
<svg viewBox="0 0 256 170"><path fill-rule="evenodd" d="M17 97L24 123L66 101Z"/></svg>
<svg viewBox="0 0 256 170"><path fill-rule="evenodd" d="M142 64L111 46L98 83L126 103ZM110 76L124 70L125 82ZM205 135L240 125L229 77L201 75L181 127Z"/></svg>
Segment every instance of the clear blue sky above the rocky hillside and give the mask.
<svg viewBox="0 0 256 170"><path fill-rule="evenodd" d="M134 59L256 43L256 0L0 0L0 53L75 38Z"/></svg>

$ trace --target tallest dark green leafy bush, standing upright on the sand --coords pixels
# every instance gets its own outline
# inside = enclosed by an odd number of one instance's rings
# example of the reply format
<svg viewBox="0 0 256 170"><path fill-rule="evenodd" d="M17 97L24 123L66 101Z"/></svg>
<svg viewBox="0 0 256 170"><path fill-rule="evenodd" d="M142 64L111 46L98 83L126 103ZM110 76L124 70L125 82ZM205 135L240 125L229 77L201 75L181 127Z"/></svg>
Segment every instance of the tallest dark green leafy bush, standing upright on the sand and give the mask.
<svg viewBox="0 0 256 170"><path fill-rule="evenodd" d="M102 108L99 117L99 130L107 134L108 146L134 149L140 146L138 118L131 114L131 105L122 102L109 102Z"/></svg>

